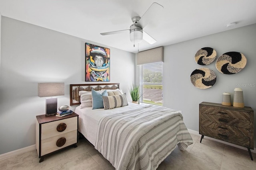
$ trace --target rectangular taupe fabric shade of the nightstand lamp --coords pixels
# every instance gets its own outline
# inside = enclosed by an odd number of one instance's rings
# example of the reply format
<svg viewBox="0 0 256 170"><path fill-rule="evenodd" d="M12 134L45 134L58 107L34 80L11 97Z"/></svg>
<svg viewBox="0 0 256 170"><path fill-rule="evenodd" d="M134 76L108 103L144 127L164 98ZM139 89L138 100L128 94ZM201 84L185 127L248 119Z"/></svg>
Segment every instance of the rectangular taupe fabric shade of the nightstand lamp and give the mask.
<svg viewBox="0 0 256 170"><path fill-rule="evenodd" d="M64 95L64 83L38 83L38 96L62 96Z"/></svg>

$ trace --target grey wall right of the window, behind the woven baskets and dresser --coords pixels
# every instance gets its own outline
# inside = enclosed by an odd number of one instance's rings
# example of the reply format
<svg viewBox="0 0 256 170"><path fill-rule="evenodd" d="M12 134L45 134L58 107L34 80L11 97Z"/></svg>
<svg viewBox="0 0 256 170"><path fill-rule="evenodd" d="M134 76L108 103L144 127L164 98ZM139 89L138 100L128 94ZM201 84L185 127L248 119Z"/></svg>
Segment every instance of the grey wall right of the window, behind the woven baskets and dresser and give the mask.
<svg viewBox="0 0 256 170"><path fill-rule="evenodd" d="M212 47L217 57L229 52L243 53L247 59L245 68L236 74L220 73L216 60L206 66L194 60L202 47ZM199 131L199 104L201 102L222 102L222 93L229 92L233 101L234 88L242 86L245 106L256 110L256 24L224 31L164 47L163 101L165 107L182 110L188 129ZM217 76L211 88L199 89L190 82L190 74L196 68L210 68ZM251 84L252 86L248 86ZM255 115L255 113L254 113ZM254 116L256 127L256 116ZM256 132L256 131L255 131ZM254 147L256 133L254 132Z"/></svg>

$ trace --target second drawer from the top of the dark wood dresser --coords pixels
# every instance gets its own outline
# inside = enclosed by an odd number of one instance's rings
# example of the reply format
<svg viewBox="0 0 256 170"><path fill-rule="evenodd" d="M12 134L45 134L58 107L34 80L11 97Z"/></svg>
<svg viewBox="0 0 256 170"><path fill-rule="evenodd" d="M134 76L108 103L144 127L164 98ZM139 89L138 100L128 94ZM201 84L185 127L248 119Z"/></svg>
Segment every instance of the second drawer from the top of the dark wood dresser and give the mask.
<svg viewBox="0 0 256 170"><path fill-rule="evenodd" d="M238 119L238 118L232 118L232 117L224 117L219 115L202 113L200 121L212 121L212 122L221 123L224 125L250 129L250 121Z"/></svg>

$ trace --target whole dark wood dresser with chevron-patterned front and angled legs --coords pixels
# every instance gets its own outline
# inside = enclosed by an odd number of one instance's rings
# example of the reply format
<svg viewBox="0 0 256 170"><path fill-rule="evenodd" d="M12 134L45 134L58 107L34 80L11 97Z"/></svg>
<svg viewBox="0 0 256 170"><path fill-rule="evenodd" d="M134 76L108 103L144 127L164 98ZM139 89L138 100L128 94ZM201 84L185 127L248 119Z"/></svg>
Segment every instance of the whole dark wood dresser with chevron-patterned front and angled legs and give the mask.
<svg viewBox="0 0 256 170"><path fill-rule="evenodd" d="M233 107L202 102L199 104L200 143L205 136L254 149L254 111L251 107ZM253 160L253 159L252 159Z"/></svg>

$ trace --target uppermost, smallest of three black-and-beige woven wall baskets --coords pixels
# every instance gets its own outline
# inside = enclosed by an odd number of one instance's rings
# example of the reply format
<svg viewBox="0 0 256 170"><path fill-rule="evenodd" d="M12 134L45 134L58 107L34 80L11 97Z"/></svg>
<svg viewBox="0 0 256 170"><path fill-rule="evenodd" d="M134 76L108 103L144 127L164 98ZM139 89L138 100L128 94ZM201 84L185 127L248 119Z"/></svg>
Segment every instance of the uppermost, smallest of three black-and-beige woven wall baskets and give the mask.
<svg viewBox="0 0 256 170"><path fill-rule="evenodd" d="M211 47L199 49L195 55L195 61L199 65L208 65L216 58L216 51Z"/></svg>

